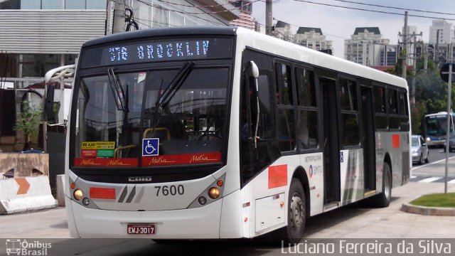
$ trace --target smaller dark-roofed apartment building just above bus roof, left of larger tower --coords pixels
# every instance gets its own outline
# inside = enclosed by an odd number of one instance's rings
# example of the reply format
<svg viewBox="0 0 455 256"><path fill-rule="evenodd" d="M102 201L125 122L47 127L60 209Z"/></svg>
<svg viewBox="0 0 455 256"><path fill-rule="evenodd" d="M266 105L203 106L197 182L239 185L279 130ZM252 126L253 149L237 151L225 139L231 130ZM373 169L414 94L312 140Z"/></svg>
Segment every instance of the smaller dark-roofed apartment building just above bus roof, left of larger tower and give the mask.
<svg viewBox="0 0 455 256"><path fill-rule="evenodd" d="M327 41L321 28L300 27L294 35L294 43L313 50L333 50L332 41Z"/></svg>

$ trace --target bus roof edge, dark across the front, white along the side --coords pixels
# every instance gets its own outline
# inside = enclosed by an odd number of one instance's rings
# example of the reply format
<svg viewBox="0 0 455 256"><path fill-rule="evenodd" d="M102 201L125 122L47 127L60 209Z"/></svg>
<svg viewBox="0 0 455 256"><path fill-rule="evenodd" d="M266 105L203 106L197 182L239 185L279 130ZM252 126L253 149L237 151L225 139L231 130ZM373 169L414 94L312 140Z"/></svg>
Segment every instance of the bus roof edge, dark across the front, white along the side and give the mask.
<svg viewBox="0 0 455 256"><path fill-rule="evenodd" d="M267 53L280 55L302 63L308 63L321 68L335 70L349 75L355 75L359 78L384 82L390 85L403 87L407 90L405 79L396 75L390 75L380 70L375 70L364 65L353 63L349 60L321 53L295 43L267 36L262 33L251 31L247 28L232 26L187 26L187 27L168 27L168 28L150 28L139 31L130 31L117 33L110 36L103 36L85 42L82 46L95 46L98 44L109 43L112 41L134 41L146 37L168 37L168 36L196 36L196 35L237 35L237 50L243 50L246 47L263 50ZM280 46L280 47L277 47Z"/></svg>

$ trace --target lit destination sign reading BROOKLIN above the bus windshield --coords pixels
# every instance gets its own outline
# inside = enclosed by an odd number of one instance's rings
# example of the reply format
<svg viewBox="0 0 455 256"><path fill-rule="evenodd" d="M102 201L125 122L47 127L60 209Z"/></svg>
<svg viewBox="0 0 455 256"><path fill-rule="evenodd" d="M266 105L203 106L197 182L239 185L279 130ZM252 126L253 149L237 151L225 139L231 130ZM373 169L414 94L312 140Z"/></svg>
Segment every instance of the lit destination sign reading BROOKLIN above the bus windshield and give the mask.
<svg viewBox="0 0 455 256"><path fill-rule="evenodd" d="M83 68L105 65L150 63L168 60L230 58L231 38L191 38L114 43L89 48L82 57Z"/></svg>

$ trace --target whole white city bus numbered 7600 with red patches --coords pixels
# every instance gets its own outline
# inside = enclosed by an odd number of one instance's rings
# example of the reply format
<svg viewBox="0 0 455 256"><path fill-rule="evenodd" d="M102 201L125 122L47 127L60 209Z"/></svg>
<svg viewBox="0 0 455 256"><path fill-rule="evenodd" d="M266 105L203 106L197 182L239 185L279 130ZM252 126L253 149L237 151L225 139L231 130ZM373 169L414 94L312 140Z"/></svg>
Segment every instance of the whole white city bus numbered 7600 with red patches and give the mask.
<svg viewBox="0 0 455 256"><path fill-rule="evenodd" d="M274 237L410 178L402 78L244 28L82 46L68 124L77 238ZM311 220L311 219L310 219Z"/></svg>

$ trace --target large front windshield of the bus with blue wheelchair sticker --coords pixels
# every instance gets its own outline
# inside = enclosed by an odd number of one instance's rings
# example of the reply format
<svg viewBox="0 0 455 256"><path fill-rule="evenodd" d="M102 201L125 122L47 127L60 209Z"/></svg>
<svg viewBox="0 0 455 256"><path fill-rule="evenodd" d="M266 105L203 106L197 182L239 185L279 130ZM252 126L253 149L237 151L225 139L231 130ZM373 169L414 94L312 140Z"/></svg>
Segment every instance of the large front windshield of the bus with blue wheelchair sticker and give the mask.
<svg viewBox="0 0 455 256"><path fill-rule="evenodd" d="M220 163L228 78L227 67L193 65L81 78L74 165Z"/></svg>

